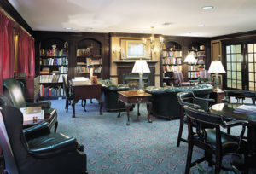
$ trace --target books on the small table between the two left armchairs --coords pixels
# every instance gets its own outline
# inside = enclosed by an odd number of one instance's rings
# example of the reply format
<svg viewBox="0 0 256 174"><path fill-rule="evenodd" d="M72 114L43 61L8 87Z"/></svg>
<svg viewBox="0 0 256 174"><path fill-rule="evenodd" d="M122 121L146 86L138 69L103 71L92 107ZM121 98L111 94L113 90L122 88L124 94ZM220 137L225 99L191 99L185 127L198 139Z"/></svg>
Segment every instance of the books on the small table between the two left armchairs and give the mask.
<svg viewBox="0 0 256 174"><path fill-rule="evenodd" d="M44 119L44 110L41 107L21 107L23 121L31 121L34 118Z"/></svg>

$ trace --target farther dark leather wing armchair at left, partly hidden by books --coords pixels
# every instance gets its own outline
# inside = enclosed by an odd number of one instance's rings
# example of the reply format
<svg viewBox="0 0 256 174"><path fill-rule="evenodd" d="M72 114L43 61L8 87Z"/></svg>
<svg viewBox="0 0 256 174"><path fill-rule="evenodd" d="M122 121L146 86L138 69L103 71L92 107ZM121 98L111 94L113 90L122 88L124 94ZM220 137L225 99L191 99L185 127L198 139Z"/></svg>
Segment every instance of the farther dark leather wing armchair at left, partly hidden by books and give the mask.
<svg viewBox="0 0 256 174"><path fill-rule="evenodd" d="M20 82L15 78L7 78L3 80L3 96L6 96L12 103L12 106L17 107L42 107L44 109L44 121L47 122L47 127L50 130L55 126L57 130L58 120L57 112L51 108L51 102L26 102Z"/></svg>

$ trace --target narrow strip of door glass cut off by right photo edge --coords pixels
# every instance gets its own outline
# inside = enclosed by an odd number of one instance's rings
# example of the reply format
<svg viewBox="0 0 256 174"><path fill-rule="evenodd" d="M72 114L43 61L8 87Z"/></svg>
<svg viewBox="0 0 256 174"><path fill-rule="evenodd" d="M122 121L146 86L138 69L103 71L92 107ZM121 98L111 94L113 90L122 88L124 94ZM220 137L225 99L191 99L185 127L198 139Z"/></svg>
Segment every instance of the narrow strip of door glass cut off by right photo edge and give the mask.
<svg viewBox="0 0 256 174"><path fill-rule="evenodd" d="M249 90L256 90L256 44L247 44L248 55L248 86Z"/></svg>

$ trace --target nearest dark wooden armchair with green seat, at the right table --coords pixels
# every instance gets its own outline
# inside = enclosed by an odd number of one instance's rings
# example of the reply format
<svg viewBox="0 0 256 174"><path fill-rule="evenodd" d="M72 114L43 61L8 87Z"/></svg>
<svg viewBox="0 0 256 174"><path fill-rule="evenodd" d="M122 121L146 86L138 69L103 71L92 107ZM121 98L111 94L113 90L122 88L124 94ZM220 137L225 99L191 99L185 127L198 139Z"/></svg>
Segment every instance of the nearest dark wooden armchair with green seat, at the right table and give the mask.
<svg viewBox="0 0 256 174"><path fill-rule="evenodd" d="M220 126L228 127L231 124L226 123L221 115L207 113L202 110L184 106L189 126L189 148L186 163L186 174L189 174L190 168L197 163L207 160L208 164L213 165L212 154L216 155L215 173L219 173L222 164L222 158L226 154L242 154L247 152L247 142L242 140L244 129L241 135L231 136L230 134L220 131ZM246 125L240 122L240 125ZM238 122L236 122L238 125ZM193 131L193 126L196 131ZM191 163L194 146L205 151L205 156Z"/></svg>

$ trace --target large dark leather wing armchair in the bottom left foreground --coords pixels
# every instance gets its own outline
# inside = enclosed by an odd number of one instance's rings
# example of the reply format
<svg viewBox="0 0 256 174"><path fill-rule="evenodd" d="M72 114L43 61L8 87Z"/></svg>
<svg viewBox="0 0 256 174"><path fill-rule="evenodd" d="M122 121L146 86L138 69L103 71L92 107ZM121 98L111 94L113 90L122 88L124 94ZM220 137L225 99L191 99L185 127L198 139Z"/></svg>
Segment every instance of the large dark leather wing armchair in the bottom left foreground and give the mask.
<svg viewBox="0 0 256 174"><path fill-rule="evenodd" d="M51 133L26 141L23 115L15 107L0 113L0 143L5 170L11 174L77 174L86 172L86 154L75 138ZM15 129L14 129L15 128Z"/></svg>

